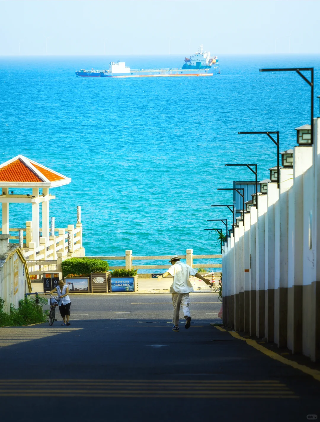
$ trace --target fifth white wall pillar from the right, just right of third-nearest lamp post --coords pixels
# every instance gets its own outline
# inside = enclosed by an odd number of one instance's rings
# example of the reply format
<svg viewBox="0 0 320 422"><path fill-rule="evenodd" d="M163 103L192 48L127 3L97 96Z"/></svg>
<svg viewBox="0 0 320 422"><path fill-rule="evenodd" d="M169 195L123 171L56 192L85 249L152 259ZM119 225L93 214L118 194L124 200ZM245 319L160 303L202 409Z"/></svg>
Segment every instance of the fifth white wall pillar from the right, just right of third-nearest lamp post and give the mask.
<svg viewBox="0 0 320 422"><path fill-rule="evenodd" d="M264 337L264 299L265 299L265 233L264 220L268 209L268 198L266 195L257 195L258 221L255 225L255 254L256 254L256 336Z"/></svg>

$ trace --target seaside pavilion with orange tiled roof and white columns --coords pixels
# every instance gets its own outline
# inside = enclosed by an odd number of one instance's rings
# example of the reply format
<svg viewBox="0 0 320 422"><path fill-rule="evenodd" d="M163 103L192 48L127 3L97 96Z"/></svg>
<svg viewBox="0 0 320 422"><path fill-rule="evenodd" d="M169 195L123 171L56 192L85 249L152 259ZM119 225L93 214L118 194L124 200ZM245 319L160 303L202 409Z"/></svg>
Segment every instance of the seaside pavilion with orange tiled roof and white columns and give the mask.
<svg viewBox="0 0 320 422"><path fill-rule="evenodd" d="M42 237L49 239L49 201L51 187L63 186L71 179L23 155L0 165L0 203L2 203L2 234L9 234L9 203L32 204L32 242L40 243L39 206L42 211ZM9 188L31 188L32 195L14 195ZM39 193L39 189L42 192Z"/></svg>

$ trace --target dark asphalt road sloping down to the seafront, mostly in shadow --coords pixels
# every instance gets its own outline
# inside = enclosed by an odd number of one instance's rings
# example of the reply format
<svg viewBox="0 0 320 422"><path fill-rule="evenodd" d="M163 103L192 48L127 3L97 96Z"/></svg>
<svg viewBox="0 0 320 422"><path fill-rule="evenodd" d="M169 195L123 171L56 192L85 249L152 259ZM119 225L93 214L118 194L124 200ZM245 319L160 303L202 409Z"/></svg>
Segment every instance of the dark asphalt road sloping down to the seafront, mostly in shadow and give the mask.
<svg viewBox="0 0 320 422"><path fill-rule="evenodd" d="M216 294L191 303L191 327L179 333L170 295L73 296L70 327L59 317L52 327L1 328L1 420L320 417L319 381L210 325Z"/></svg>

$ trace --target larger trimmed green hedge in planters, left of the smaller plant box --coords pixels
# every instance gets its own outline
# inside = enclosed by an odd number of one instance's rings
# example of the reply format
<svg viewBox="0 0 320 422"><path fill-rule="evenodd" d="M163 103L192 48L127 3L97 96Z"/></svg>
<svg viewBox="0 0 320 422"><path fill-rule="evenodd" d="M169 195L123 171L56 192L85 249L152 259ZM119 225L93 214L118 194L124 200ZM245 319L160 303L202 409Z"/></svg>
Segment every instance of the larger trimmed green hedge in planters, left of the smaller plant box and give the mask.
<svg viewBox="0 0 320 422"><path fill-rule="evenodd" d="M70 258L70 260L62 261L62 277L68 274L89 277L90 273L105 273L108 269L107 261L92 258Z"/></svg>

